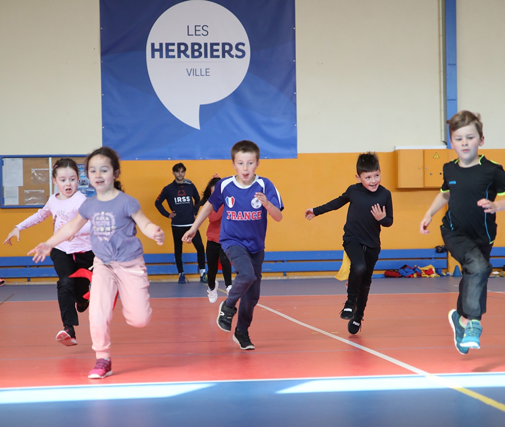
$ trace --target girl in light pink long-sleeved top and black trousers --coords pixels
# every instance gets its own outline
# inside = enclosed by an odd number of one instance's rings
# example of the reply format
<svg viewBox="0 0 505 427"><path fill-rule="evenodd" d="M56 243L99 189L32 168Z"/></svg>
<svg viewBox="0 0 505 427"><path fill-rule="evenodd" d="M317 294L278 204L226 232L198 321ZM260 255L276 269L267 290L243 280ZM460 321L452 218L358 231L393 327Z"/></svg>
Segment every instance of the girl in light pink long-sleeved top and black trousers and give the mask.
<svg viewBox="0 0 505 427"><path fill-rule="evenodd" d="M53 167L53 183L58 193L47 200L45 206L31 217L19 223L9 233L4 244L12 246L11 239L20 240L21 230L41 223L53 216L53 228L56 233L77 215L77 210L86 196L77 191L79 170L71 158L60 158ZM89 281L85 278L69 277L78 269L88 269L93 264L93 252L89 241L89 223L69 240L60 243L51 250L56 273L58 275L58 303L63 322L63 329L56 335L56 340L66 346L76 345L74 326L79 325L77 312L83 312L89 301L83 295L89 290Z"/></svg>

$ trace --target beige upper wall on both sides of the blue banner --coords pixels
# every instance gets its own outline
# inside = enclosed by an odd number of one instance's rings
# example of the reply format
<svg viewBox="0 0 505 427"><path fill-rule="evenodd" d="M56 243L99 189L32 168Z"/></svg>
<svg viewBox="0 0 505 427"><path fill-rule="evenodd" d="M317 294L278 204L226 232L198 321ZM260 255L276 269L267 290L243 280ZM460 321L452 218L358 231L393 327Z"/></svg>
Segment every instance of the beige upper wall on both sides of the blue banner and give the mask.
<svg viewBox="0 0 505 427"><path fill-rule="evenodd" d="M392 151L441 137L441 0L296 0L298 151ZM458 0L461 108L501 148L501 0ZM102 141L98 0L0 2L2 154Z"/></svg>

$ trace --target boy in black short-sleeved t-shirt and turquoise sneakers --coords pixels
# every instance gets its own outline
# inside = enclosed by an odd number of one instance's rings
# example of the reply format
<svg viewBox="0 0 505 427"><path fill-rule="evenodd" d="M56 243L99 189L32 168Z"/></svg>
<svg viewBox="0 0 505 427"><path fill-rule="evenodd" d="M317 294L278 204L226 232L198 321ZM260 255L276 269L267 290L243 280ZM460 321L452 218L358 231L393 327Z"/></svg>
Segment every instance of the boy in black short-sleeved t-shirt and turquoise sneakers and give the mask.
<svg viewBox="0 0 505 427"><path fill-rule="evenodd" d="M433 215L446 204L440 231L445 247L461 264L456 309L449 311L449 324L456 349L467 354L480 348L480 324L486 312L489 262L496 237L496 211L505 209L505 171L501 165L479 155L484 145L479 114L460 111L447 120L452 148L458 158L443 166L443 184L420 224L428 234Z"/></svg>

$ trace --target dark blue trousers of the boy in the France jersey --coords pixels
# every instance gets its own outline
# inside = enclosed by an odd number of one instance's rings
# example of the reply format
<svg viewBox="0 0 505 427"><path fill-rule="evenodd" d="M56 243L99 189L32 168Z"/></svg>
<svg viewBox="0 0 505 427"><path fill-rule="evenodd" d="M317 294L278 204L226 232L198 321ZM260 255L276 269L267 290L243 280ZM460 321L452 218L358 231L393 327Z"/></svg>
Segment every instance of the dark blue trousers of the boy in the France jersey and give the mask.
<svg viewBox="0 0 505 427"><path fill-rule="evenodd" d="M237 329L246 333L252 322L254 307L260 299L261 268L265 251L250 253L242 246L230 246L224 251L235 269L236 277L225 304L235 307L240 299Z"/></svg>

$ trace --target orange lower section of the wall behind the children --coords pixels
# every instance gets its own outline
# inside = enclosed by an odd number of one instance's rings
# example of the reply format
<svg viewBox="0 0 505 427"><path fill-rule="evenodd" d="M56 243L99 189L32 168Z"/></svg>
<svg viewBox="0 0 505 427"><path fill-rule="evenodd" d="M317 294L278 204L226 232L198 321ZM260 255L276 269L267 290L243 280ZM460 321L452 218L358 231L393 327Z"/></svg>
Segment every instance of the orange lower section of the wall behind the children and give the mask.
<svg viewBox="0 0 505 427"><path fill-rule="evenodd" d="M505 164L505 150L482 150L486 157ZM262 159L258 174L273 181L281 193L285 209L283 220L269 221L266 248L281 250L331 250L342 249L342 228L347 209L328 212L312 221L304 219L305 209L323 204L356 182L357 153L299 154L295 159ZM394 152L379 153L382 185L392 192L394 223L382 230L382 248L431 248L443 244L439 225L443 212L439 212L430 227L431 234L421 235L419 223L436 189L396 189ZM124 161L121 164L121 181L125 191L140 201L147 217L159 224L167 233L165 245L158 246L140 234L146 253L173 252L170 220L162 217L154 201L161 189L173 180L172 166L177 161ZM201 192L214 173L222 177L232 175L231 161L184 161L186 178L193 181ZM440 183L441 184L441 183ZM7 236L14 225L35 212L36 209L1 209L0 236ZM505 246L505 216L498 212L498 237L496 246ZM0 256L25 255L37 243L52 233L52 222L21 232L21 242L13 247L2 246ZM207 223L201 227L205 236ZM205 240L205 239L204 239ZM188 245L185 251L194 251Z"/></svg>

